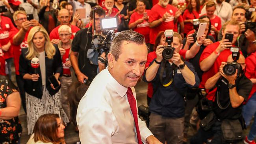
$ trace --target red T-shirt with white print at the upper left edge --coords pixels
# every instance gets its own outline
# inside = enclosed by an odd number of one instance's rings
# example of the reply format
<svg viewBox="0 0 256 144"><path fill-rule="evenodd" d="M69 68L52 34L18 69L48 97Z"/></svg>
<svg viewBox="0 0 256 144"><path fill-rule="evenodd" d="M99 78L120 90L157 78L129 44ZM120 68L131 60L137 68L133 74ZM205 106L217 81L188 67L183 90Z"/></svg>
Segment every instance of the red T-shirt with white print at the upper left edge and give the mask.
<svg viewBox="0 0 256 144"><path fill-rule="evenodd" d="M15 26L13 26L13 23L11 22L11 19L8 17L0 16L2 18L0 23L0 44L1 46L6 45L9 41L9 34L12 30L15 29ZM4 52L4 59L9 59L13 57L13 48L10 46L9 50L7 52Z"/></svg>

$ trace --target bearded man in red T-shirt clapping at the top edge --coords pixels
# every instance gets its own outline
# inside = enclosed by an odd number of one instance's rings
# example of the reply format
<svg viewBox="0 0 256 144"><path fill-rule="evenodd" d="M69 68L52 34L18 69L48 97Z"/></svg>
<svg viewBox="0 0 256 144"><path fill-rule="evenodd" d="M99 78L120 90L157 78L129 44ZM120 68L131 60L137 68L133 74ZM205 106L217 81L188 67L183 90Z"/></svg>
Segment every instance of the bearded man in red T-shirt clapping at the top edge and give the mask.
<svg viewBox="0 0 256 144"><path fill-rule="evenodd" d="M173 30L177 22L183 22L182 10L169 4L169 0L159 0L158 4L152 7L149 15L149 27L151 28L150 48L155 44L156 35L159 31Z"/></svg>

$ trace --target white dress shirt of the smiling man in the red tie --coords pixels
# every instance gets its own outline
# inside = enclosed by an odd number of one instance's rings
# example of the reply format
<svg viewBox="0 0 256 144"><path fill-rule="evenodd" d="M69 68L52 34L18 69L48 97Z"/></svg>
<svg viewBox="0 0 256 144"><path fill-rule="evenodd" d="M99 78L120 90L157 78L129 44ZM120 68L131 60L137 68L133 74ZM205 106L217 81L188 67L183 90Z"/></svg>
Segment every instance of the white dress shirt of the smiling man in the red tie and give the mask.
<svg viewBox="0 0 256 144"><path fill-rule="evenodd" d="M136 98L135 89L132 88L132 91ZM108 68L93 79L78 105L76 115L82 144L138 143L126 92L127 88L111 76ZM139 117L138 124L141 140L145 142L152 133Z"/></svg>

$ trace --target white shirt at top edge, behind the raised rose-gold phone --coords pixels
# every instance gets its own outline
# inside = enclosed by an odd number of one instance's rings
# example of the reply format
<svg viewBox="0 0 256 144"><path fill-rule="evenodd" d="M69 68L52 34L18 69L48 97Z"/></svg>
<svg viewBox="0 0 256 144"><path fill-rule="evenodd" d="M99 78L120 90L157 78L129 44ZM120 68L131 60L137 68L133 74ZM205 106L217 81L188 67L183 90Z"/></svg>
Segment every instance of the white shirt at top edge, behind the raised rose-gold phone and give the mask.
<svg viewBox="0 0 256 144"><path fill-rule="evenodd" d="M74 13L76 13L76 9L85 9L86 18L82 18L83 24L86 25L87 23L90 22L90 12L91 12L90 4L84 2L84 6L83 6L80 2L77 2L75 0L68 0L68 2L72 4Z"/></svg>

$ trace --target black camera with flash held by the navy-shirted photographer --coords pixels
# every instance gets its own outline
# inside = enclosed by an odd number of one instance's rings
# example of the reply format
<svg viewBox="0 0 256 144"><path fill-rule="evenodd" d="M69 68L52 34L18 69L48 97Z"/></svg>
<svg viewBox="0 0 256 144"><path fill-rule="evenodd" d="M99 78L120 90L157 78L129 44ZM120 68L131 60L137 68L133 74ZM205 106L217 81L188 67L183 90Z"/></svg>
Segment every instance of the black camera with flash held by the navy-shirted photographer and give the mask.
<svg viewBox="0 0 256 144"><path fill-rule="evenodd" d="M171 46L171 43L173 42L173 34L173 30L165 30L165 42L167 42L168 45L161 47L164 49L162 55L165 60L171 59L174 54L175 48Z"/></svg>

